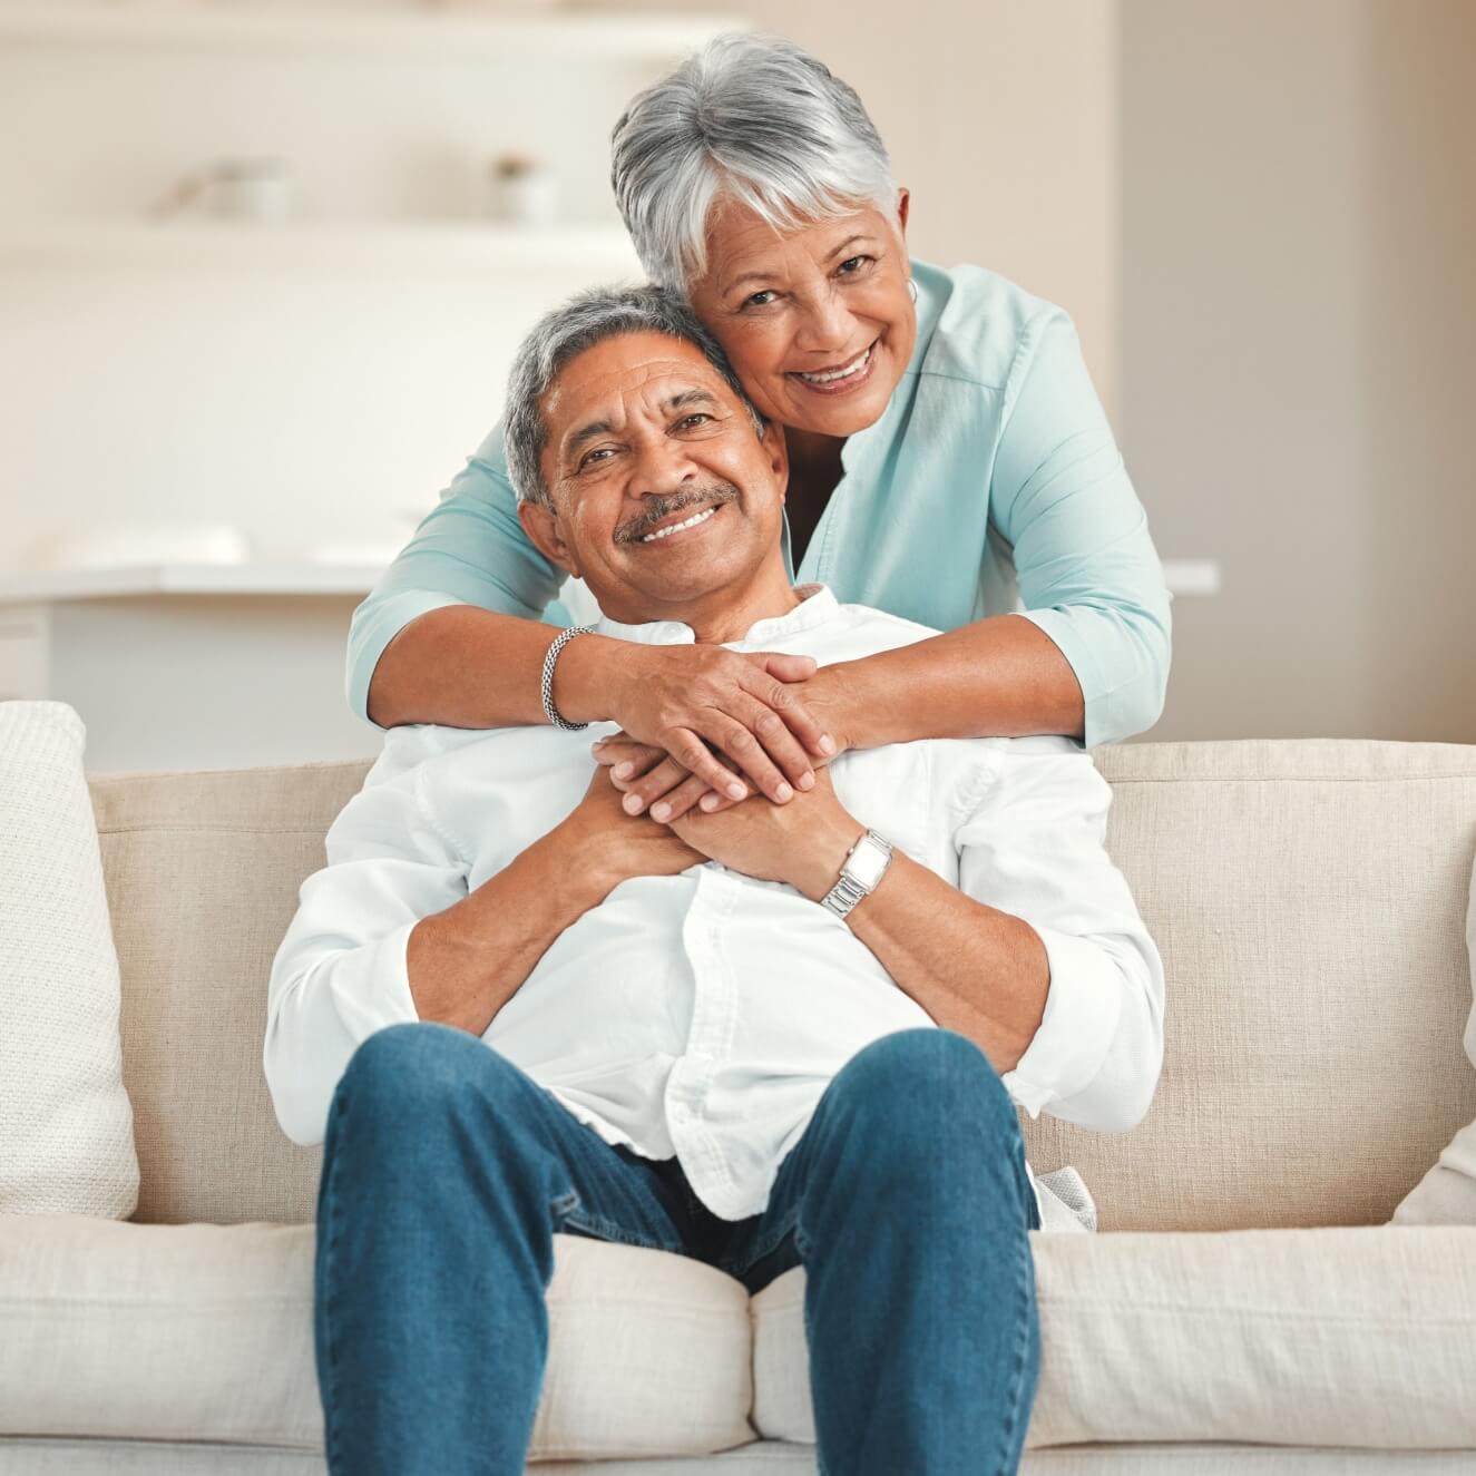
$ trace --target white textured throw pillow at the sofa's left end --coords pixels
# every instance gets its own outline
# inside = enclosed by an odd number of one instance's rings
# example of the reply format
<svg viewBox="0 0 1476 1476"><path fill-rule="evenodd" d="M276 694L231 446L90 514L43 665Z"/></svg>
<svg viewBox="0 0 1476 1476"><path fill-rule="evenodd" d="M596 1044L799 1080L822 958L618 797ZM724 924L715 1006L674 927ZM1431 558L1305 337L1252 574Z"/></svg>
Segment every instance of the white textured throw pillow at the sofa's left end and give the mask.
<svg viewBox="0 0 1476 1476"><path fill-rule="evenodd" d="M118 955L66 703L0 703L0 1213L139 1204Z"/></svg>

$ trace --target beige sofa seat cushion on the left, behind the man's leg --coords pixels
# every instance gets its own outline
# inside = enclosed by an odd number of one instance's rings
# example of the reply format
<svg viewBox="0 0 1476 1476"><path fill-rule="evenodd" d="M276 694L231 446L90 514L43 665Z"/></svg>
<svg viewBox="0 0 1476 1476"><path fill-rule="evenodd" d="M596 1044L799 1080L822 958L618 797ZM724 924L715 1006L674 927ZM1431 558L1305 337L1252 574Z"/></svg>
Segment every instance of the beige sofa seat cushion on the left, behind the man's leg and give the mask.
<svg viewBox="0 0 1476 1476"><path fill-rule="evenodd" d="M0 1216L0 1435L322 1451L314 1234L260 1221ZM555 1235L554 1250L533 1460L753 1441L739 1281L579 1235Z"/></svg>

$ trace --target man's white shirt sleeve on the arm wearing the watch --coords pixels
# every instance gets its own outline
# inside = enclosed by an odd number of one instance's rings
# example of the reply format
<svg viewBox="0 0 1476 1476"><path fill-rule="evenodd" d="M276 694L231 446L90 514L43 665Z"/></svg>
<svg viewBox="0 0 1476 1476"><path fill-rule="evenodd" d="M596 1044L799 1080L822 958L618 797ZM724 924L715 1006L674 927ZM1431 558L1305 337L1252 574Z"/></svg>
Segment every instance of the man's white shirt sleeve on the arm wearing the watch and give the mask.
<svg viewBox="0 0 1476 1476"><path fill-rule="evenodd" d="M1157 1091L1165 984L1104 844L1111 787L1080 750L998 760L955 831L959 887L1029 922L1051 976L1041 1024L1001 1079L1032 1117L1126 1132Z"/></svg>

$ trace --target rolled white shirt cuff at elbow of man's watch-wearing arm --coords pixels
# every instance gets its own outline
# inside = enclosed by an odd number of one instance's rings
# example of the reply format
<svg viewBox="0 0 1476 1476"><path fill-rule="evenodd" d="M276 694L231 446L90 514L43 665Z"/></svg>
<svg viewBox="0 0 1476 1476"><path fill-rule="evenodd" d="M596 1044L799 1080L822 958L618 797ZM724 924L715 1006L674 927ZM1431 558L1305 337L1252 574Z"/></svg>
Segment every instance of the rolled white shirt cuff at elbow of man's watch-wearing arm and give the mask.
<svg viewBox="0 0 1476 1476"><path fill-rule="evenodd" d="M1095 943L1030 927L1045 945L1051 983L1045 1015L1014 1070L999 1079L1032 1117L1046 1103L1085 1091L1111 1048L1122 1014L1122 973Z"/></svg>

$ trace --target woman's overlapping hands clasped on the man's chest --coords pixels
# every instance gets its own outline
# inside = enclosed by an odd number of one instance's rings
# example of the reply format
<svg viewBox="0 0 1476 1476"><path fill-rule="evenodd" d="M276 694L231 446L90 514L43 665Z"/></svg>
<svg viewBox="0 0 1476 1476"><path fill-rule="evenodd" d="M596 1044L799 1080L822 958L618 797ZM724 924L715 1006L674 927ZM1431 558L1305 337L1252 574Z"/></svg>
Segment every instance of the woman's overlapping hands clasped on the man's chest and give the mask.
<svg viewBox="0 0 1476 1476"><path fill-rule="evenodd" d="M796 788L813 788L815 765L840 751L810 703L799 697L813 676L809 655L706 644L642 646L614 707L621 741L649 757L639 787L626 794L626 813L639 815L651 799L688 778L700 788L686 809L704 790L737 801L757 788L782 804ZM608 747L596 745L595 757L605 762ZM717 753L738 772L722 765Z"/></svg>

